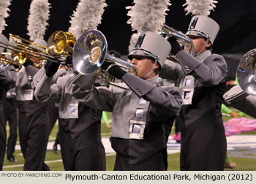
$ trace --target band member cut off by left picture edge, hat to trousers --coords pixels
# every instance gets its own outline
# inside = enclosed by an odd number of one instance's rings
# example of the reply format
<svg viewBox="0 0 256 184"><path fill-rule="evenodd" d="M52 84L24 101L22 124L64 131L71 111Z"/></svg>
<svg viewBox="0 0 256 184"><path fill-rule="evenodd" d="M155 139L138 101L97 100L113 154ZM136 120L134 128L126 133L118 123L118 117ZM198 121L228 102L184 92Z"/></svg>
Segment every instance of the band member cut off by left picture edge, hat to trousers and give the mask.
<svg viewBox="0 0 256 184"><path fill-rule="evenodd" d="M8 43L8 39L0 34L0 42ZM0 47L0 53L4 48ZM6 125L4 120L4 99L7 91L15 87L16 72L13 66L0 67L0 170L3 169L4 155L6 150Z"/></svg>

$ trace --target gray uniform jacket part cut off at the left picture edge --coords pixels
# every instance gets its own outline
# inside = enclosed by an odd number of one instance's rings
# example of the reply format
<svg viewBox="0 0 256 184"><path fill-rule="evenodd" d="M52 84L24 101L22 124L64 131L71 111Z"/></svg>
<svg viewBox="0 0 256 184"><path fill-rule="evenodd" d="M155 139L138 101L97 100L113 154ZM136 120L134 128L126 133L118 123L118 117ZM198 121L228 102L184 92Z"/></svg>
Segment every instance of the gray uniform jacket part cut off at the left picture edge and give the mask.
<svg viewBox="0 0 256 184"><path fill-rule="evenodd" d="M0 67L0 110L3 110L3 103L7 91L15 87L16 72L13 66Z"/></svg>

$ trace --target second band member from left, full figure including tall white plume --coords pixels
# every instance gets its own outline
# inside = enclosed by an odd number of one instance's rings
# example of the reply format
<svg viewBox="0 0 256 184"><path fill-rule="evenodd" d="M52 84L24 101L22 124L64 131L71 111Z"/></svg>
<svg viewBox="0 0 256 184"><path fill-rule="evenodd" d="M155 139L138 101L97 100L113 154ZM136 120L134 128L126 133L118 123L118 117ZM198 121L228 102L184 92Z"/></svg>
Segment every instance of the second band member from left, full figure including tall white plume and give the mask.
<svg viewBox="0 0 256 184"><path fill-rule="evenodd" d="M47 21L50 16L50 4L48 0L33 0L29 8L28 35L36 45L30 45L36 49L46 51L45 35ZM42 46L42 47L40 47ZM37 51L38 50L38 51ZM29 50L26 50L30 53ZM39 52L40 53L40 52ZM18 132L20 148L25 160L24 170L50 170L44 163L48 144L48 114L47 104L34 98L33 77L38 72L35 64L40 59L36 53L26 57L26 61L18 72L16 81L16 98L18 103Z"/></svg>

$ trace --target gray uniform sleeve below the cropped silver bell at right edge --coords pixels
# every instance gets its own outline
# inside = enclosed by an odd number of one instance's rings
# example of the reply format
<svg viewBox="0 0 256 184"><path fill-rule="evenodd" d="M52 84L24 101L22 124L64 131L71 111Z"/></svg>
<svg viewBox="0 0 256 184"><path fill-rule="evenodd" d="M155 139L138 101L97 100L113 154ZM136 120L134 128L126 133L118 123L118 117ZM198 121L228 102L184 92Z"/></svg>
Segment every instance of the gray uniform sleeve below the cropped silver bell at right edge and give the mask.
<svg viewBox="0 0 256 184"><path fill-rule="evenodd" d="M256 118L256 96L245 93L239 85L227 91L223 98L232 107Z"/></svg>

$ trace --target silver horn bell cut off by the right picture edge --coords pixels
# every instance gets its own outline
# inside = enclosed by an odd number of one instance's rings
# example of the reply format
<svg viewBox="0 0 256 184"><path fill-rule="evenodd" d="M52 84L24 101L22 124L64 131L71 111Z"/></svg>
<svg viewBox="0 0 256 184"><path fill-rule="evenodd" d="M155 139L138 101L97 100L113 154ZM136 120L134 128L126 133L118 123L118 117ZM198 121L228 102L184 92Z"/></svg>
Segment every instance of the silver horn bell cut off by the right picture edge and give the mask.
<svg viewBox="0 0 256 184"><path fill-rule="evenodd" d="M256 95L256 48L249 50L240 60L236 70L238 84L250 95Z"/></svg>

